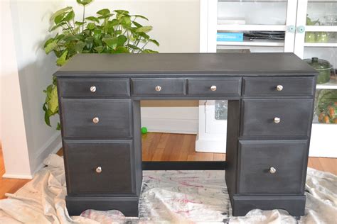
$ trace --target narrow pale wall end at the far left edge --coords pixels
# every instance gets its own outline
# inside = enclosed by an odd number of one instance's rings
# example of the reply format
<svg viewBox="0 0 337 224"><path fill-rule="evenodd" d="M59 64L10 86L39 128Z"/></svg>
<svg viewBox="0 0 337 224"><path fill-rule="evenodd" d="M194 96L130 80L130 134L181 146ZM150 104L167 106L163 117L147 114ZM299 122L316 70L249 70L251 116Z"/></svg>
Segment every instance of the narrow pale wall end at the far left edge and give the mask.
<svg viewBox="0 0 337 224"><path fill-rule="evenodd" d="M31 168L28 159L28 145L24 128L9 2L1 1L0 6L0 140L4 153L6 173L10 173L13 177L30 178ZM4 33L6 35L3 35Z"/></svg>

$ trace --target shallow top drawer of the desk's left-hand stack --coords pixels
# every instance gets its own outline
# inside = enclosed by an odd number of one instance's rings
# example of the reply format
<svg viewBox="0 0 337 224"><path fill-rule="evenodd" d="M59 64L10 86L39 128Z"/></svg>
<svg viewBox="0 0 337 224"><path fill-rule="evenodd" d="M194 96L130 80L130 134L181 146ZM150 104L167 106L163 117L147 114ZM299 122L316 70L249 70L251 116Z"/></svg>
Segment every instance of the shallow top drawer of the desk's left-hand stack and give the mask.
<svg viewBox="0 0 337 224"><path fill-rule="evenodd" d="M130 96L129 79L59 79L60 96Z"/></svg>

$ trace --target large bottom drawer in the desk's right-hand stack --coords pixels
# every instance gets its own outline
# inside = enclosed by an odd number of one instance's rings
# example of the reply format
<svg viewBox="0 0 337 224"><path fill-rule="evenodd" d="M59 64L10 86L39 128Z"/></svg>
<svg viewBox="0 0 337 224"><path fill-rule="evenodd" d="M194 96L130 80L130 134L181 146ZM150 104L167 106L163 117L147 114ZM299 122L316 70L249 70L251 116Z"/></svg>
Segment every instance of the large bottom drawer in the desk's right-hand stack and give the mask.
<svg viewBox="0 0 337 224"><path fill-rule="evenodd" d="M307 140L239 141L238 194L303 194Z"/></svg>

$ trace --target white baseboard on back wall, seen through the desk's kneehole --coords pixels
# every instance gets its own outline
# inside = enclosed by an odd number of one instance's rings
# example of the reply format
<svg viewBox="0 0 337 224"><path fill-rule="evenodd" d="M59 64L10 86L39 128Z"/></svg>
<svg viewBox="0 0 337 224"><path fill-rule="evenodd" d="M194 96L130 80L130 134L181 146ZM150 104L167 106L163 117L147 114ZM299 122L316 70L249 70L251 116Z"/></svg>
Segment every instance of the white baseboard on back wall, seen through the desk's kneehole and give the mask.
<svg viewBox="0 0 337 224"><path fill-rule="evenodd" d="M156 133L198 133L198 120L141 118L141 126L146 127L149 132Z"/></svg>

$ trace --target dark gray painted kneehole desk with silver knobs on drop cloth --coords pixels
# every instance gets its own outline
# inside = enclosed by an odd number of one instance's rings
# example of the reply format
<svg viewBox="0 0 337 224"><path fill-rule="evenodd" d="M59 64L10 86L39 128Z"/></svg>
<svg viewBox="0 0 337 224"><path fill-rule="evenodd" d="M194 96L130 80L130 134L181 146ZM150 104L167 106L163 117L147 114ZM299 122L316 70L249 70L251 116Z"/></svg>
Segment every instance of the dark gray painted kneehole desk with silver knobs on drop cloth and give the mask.
<svg viewBox="0 0 337 224"><path fill-rule="evenodd" d="M55 75L70 215L137 216L143 169L224 167L233 215L304 215L316 72L295 55L87 54ZM141 99L228 99L226 162L142 163Z"/></svg>

